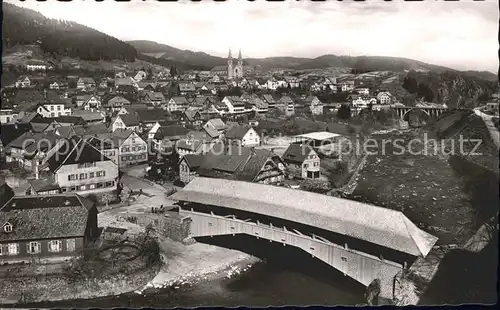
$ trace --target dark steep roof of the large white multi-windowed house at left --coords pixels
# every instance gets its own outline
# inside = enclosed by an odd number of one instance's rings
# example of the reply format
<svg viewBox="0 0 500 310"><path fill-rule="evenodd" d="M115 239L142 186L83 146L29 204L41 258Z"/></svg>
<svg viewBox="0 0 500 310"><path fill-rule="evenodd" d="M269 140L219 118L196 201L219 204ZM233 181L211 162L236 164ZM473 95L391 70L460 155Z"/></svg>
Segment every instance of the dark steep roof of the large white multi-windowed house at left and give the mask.
<svg viewBox="0 0 500 310"><path fill-rule="evenodd" d="M79 137L65 139L66 146L61 147L58 156L52 156L47 161L50 171L56 172L63 165L93 163L100 161L109 161L110 159L104 156L95 147L88 144L84 139Z"/></svg>

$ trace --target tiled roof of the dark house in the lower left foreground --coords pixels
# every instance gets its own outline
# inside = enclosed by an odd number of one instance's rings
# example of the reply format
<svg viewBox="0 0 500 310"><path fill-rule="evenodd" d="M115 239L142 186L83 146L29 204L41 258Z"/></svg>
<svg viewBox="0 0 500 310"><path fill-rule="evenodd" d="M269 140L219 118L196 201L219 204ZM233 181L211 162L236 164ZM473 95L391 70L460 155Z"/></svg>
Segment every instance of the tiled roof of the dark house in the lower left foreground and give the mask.
<svg viewBox="0 0 500 310"><path fill-rule="evenodd" d="M13 226L0 241L84 237L93 207L77 194L14 196L0 207L0 223Z"/></svg>

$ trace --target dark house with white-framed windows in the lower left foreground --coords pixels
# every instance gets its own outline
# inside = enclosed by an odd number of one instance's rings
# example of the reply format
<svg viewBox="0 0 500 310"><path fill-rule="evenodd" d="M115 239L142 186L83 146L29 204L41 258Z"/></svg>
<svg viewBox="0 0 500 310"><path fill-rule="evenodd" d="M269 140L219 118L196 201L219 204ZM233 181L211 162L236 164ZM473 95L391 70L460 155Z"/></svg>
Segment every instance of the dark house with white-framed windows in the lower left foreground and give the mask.
<svg viewBox="0 0 500 310"><path fill-rule="evenodd" d="M76 194L14 196L0 207L0 264L60 262L98 237L97 207Z"/></svg>

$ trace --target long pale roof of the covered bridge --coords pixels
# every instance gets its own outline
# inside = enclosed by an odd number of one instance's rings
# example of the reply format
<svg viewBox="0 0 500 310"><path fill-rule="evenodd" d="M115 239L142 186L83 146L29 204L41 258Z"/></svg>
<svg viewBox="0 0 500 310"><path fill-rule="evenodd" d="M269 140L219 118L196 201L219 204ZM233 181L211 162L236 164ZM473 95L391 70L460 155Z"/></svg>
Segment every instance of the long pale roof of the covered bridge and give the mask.
<svg viewBox="0 0 500 310"><path fill-rule="evenodd" d="M286 187L197 177L170 198L282 218L415 256L426 256L438 239L400 211Z"/></svg>

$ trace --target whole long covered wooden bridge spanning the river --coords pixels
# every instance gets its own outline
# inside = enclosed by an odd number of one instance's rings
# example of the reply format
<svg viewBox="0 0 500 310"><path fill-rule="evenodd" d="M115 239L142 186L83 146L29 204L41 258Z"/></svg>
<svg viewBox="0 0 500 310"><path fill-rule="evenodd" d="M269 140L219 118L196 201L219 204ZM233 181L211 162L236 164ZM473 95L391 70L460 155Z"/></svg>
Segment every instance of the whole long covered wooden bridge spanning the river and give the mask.
<svg viewBox="0 0 500 310"><path fill-rule="evenodd" d="M364 286L379 279L389 299L396 277L437 241L399 211L284 187L198 177L171 198L191 219L190 237L293 246Z"/></svg>

